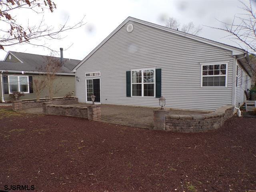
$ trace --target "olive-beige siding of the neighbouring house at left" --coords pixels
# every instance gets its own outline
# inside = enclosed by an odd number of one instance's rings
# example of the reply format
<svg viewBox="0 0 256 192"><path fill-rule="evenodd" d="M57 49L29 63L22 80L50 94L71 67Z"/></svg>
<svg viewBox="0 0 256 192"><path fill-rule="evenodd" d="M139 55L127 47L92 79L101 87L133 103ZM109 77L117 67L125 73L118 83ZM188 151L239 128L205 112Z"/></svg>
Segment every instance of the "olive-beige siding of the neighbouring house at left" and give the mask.
<svg viewBox="0 0 256 192"><path fill-rule="evenodd" d="M33 77L33 81L35 79L42 79L44 78L43 75L39 75L39 74L13 74L13 73L8 73L8 75L16 75L16 76L32 76ZM34 82L33 82L34 84ZM56 75L56 79L54 80L54 90L55 90L55 94L54 94L54 98L58 98L58 97L64 97L66 96L66 94L68 94L68 92L74 92L74 94L72 94L71 96L76 96L75 93L75 76L70 76L70 75ZM44 88L44 90L42 90L41 94L40 94L40 98L45 99L45 96L48 95L48 91L46 88ZM36 94L35 94L35 90L33 93L27 93L24 96L20 97L20 100L32 100L32 99L36 99ZM4 100L5 101L10 101L12 100L12 98L9 96L9 94L4 94Z"/></svg>

